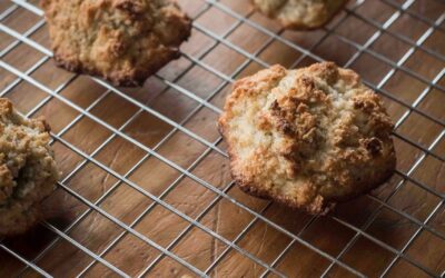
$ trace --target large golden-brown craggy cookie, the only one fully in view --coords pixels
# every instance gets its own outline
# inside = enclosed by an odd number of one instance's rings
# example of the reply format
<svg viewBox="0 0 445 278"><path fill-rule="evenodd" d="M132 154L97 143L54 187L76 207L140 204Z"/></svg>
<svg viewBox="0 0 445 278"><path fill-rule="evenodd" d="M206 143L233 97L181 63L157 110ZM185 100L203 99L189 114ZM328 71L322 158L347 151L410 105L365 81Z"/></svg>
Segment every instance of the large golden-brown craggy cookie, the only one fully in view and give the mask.
<svg viewBox="0 0 445 278"><path fill-rule="evenodd" d="M310 214L374 189L396 165L382 100L333 62L237 81L219 129L244 191Z"/></svg>

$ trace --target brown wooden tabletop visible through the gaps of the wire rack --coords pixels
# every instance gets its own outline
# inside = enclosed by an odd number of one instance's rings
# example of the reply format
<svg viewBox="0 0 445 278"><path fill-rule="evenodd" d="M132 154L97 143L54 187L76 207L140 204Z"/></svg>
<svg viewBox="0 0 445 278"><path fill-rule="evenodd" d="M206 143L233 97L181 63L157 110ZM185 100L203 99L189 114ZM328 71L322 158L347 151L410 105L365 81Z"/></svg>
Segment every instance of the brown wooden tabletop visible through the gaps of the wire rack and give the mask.
<svg viewBox="0 0 445 278"><path fill-rule="evenodd" d="M36 1L31 2L36 3ZM238 20L236 18L216 7L210 7L200 13L202 9L206 9L206 3L201 0L181 0L179 2L195 18L195 23L197 24L190 40L182 47L185 56L177 61L170 62L157 76L149 78L142 88L119 89L130 98L180 123L181 127L198 135L206 141L215 142L218 148L225 149L224 142L218 141L219 135L215 123L218 115L209 108L200 106L199 102L188 98L177 89L169 87L162 79L172 81L200 98L209 98L208 101L211 105L221 108L225 97L230 91L230 82L225 81L221 76L194 63L187 57L200 60L207 67L234 79L250 75L261 69L261 66L229 46L218 42L211 36L199 31L205 28L214 36L226 36L228 30L234 24L237 24ZM336 61L338 64L346 63L358 51L353 43L364 44L378 31L375 26L364 21L363 18L382 24L396 12L385 1L368 0L353 14L346 12L338 14L327 28L333 28L344 17L346 19L332 32L326 30L295 32L284 31L275 22L254 12L248 1L221 0L220 3L243 16L249 16L249 19L256 24L278 33L279 37L296 43L298 47L309 49L313 53L324 59ZM349 6L353 6L353 3L349 3ZM8 7L11 7L9 1L0 1L0 13ZM408 10L421 14L429 21L435 21L443 14L445 4L436 0L417 0ZM20 8L3 19L1 23L22 33L39 20L41 18ZM408 13L403 13L388 27L388 30L415 41L429 27ZM428 39L425 40L423 48L442 54L442 58L444 58L444 27L442 24L442 29L434 30ZM31 34L30 39L48 47L47 27L43 26ZM269 39L271 40L270 43L264 46ZM226 36L226 40L270 64L281 63L290 67L295 66L294 63L298 59L297 67L314 62L314 59L305 56L301 51L289 47L283 41L270 38L246 22L238 23ZM0 32L0 51L13 41L12 37ZM367 48L367 51L359 52L358 57L350 63L350 68L359 72L365 80L377 86L393 69L389 62L396 63L411 47L406 41L383 32ZM202 54L209 48L211 49L208 53ZM380 58L387 59L387 61L377 59L375 53L379 54ZM1 57L1 60L21 71L27 71L43 57L32 47L20 43L12 51ZM394 121L397 121L405 112L409 111L409 107L400 105L394 98L408 106L413 105L421 93L428 88L428 82L439 75L444 66L444 59L437 59L422 49L414 49L414 53L403 63L403 67L421 78L413 77L413 75L403 70L397 70L382 87L385 105ZM316 218L304 229L310 220L309 216L298 211L290 211L275 203L270 205L266 200L243 193L236 187L229 187L231 179L228 160L224 156L215 150L209 150L201 142L152 113L140 111L139 107L117 93L107 92L106 88L92 81L89 77L73 77L70 72L55 67L50 59L30 76L51 90L58 90L61 85L75 78L58 92L60 96L82 109L88 109L93 116L116 129L121 128L123 123L129 121L122 128L122 132L137 140L141 146L152 148L162 157L188 169L191 173L214 187L220 190L227 189L227 193L238 202L260 212L270 221L294 235L298 235L306 242L334 257L337 257L356 235L352 228L336 219L340 219L358 229L364 229L363 227L368 221L368 218L376 214L375 220L365 229L366 234L396 250L402 250L409 238L418 230L419 225L389 208L377 210L379 208L377 200L386 201L392 208L413 217L417 221L427 220L436 206L444 201L444 199L428 192L413 181L405 181L398 190L395 190L396 186L403 181L400 176L395 175L386 185L373 192L372 197L364 196L354 201L339 205L334 214ZM16 79L14 75L0 68L0 91L3 91ZM437 85L444 88L445 78L442 77ZM6 97L14 102L17 109L28 113L47 98L48 93L21 80L11 90L8 90ZM97 101L96 105L93 105L95 101ZM435 122L412 110L396 132L415 145L429 148L437 136L444 131L444 126L441 125L445 120L444 101L445 91L431 89L427 96L418 103L417 109L434 117L437 121ZM90 107L91 105L93 107ZM228 246L198 227L189 227L187 220L162 206L156 205L150 198L131 186L137 186L142 191L150 192L154 196L162 197L162 200L192 219L199 217L199 222L202 226L229 241L235 240L247 225L255 220L251 214L225 198L218 198L211 190L189 177L185 177L181 172L156 157L149 156L140 166L129 172L138 161L146 157L147 152L125 138L113 136L112 131L95 120L79 115L78 111L57 98L51 98L32 115L32 117L37 116L44 116L55 133L59 133L67 125L71 125L77 117L80 117L71 128L61 135L61 138L88 156L95 153L95 160L109 167L118 175L127 177L131 183L117 179L100 166L85 161L82 156L56 140L53 149L65 177L82 165L65 182L66 186L91 202L97 202L99 198L112 189L103 200L98 202L98 206L126 225L131 225L148 207L152 206L149 212L134 226L134 229L165 248L185 229L188 229L186 236L171 248L171 251L202 271L212 265ZM100 148L110 137L112 137L111 140L103 148ZM402 172L407 172L424 152L400 137L395 137L394 140L398 157L397 169ZM97 151L98 148L100 150ZM202 155L205 151L207 152ZM436 157L427 156L411 172L411 177L444 195L445 163L443 158L445 157L445 139L442 139L431 151ZM442 160L437 157L442 158ZM168 192L165 192L172 183L174 187ZM393 195L393 192L395 193ZM206 207L214 201L216 201L216 205L209 211L202 214ZM44 200L43 207L48 222L60 230L65 230L77 221L83 212L89 211L67 235L95 254L100 254L119 235L125 232L121 227L101 214L89 210L86 203L61 188L58 188L53 195ZM427 226L441 235L445 235L445 208L443 203L436 214L428 219ZM57 238L57 235L46 228L44 225L39 225L27 235L4 239L3 244L23 258L33 260ZM270 265L290 242L291 238L289 236L263 220L256 220L236 245L265 264ZM405 254L416 264L428 268L433 274L441 275L445 270L445 241L431 231L421 230L418 237L409 245ZM138 237L125 234L102 258L128 275L137 276L155 261L159 255L158 250ZM357 240L339 259L364 275L374 277L380 275L395 256L394 252L378 246L368 238L358 236ZM72 244L59 238L34 262L56 277L75 277L89 264L93 262L93 259ZM283 259L279 260L276 269L289 277L314 277L322 275L329 265L330 261L325 257L299 242L295 242ZM19 274L23 277L38 276L31 269L26 269L22 272L23 267L23 264L6 251L0 251L0 277L13 277ZM210 275L215 277L257 277L264 270L264 267L230 248L226 256L216 264ZM181 277L185 274L192 275L174 259L162 256L148 272L148 276ZM115 277L116 274L100 262L96 262L89 268L86 276ZM353 276L353 274L338 265L335 265L329 271L329 277L349 276ZM389 270L388 276L425 277L427 275L407 260L398 259Z"/></svg>

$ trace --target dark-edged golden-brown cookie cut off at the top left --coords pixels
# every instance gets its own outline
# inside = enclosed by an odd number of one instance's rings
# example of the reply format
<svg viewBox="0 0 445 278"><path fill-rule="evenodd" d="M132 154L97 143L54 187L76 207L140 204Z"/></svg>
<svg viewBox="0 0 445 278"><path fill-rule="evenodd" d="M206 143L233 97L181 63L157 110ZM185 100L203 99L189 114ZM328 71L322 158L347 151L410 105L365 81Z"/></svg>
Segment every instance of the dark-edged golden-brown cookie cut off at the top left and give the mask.
<svg viewBox="0 0 445 278"><path fill-rule="evenodd" d="M175 0L41 0L57 64L140 86L172 59L191 21Z"/></svg>

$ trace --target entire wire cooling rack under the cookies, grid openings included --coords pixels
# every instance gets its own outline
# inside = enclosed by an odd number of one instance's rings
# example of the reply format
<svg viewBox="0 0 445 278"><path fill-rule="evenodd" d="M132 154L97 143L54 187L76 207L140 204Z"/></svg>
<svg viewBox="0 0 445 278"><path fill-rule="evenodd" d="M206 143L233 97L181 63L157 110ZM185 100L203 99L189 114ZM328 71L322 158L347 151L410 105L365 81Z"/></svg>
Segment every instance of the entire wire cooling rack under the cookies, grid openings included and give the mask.
<svg viewBox="0 0 445 278"><path fill-rule="evenodd" d="M31 235L2 239L1 276L445 276L445 3L350 1L327 27L305 33L280 29L245 2L180 1L194 34L180 60L142 89L57 69L37 2L0 3L0 97L49 119L63 178L46 202L81 207L61 209L69 220L56 214ZM396 122L395 176L328 217L237 193L217 177L228 175L215 119L230 85L275 62L323 60L355 69L384 98ZM167 131L157 133L159 126ZM160 189L147 186L157 180ZM129 211L122 217L117 207ZM174 221L165 225L167 215Z"/></svg>

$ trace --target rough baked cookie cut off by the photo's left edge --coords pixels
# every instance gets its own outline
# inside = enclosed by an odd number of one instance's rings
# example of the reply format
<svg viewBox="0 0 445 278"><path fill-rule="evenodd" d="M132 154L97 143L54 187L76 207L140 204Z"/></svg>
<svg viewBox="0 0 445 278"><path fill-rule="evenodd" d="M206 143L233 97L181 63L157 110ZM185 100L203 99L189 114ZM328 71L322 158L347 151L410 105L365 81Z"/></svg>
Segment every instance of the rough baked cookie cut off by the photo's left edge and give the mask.
<svg viewBox="0 0 445 278"><path fill-rule="evenodd" d="M0 98L0 237L33 226L39 202L55 188L59 171L48 131L43 120L22 118Z"/></svg>

